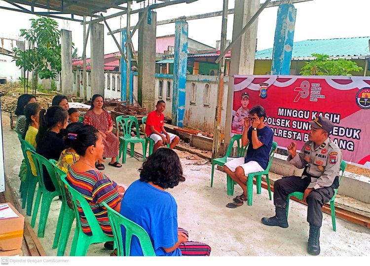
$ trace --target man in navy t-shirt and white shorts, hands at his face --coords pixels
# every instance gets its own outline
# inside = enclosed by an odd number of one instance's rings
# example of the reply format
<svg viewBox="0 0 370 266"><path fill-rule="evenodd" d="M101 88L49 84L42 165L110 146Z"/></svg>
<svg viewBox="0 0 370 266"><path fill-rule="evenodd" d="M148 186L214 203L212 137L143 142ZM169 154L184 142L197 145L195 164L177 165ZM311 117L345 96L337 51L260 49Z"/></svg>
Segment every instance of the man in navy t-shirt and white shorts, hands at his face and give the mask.
<svg viewBox="0 0 370 266"><path fill-rule="evenodd" d="M242 188L243 193L236 196L226 205L236 208L247 200L247 177L250 173L264 171L268 165L269 154L272 146L273 132L263 123L266 112L262 106L255 106L249 110L250 118L244 119L242 146L249 144L247 155L228 161L223 166L225 172ZM252 126L250 124L252 123Z"/></svg>

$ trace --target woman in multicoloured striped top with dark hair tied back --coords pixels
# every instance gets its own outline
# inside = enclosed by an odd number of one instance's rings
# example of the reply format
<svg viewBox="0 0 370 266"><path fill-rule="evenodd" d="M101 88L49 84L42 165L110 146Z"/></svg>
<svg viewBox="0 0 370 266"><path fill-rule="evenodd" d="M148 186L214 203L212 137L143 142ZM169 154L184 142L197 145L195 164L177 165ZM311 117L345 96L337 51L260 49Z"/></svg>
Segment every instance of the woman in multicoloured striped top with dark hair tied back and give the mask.
<svg viewBox="0 0 370 266"><path fill-rule="evenodd" d="M112 236L107 209L103 202L119 212L124 188L99 172L94 166L95 162L103 156L104 151L103 138L99 131L91 125L84 125L73 134L74 138L70 139L71 146L79 155L79 160L70 167L67 182L87 200L103 232ZM91 235L91 228L78 203L77 210L82 231ZM107 245L107 243L105 246L110 246L111 249L113 247L112 244Z"/></svg>

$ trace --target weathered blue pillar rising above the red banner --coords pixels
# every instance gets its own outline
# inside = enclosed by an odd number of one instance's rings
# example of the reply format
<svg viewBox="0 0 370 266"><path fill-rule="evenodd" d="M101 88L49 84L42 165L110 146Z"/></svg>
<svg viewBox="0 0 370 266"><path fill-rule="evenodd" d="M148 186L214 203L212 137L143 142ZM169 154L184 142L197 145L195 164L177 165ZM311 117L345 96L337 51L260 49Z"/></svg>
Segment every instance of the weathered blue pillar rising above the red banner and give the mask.
<svg viewBox="0 0 370 266"><path fill-rule="evenodd" d="M279 5L272 52L272 75L290 75L296 11L292 3Z"/></svg>

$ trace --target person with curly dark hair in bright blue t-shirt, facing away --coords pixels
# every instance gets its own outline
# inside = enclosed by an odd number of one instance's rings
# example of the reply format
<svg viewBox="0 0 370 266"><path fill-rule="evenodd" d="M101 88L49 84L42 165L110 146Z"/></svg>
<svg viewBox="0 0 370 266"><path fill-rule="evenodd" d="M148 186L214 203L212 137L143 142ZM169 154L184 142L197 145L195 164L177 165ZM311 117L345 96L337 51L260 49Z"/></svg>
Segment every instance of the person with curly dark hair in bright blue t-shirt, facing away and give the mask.
<svg viewBox="0 0 370 266"><path fill-rule="evenodd" d="M209 256L210 246L188 241L188 232L178 228L176 200L166 191L185 181L176 152L158 149L139 171L140 179L126 190L120 213L147 231L157 256ZM122 237L125 243L125 230ZM143 256L136 236L130 255Z"/></svg>

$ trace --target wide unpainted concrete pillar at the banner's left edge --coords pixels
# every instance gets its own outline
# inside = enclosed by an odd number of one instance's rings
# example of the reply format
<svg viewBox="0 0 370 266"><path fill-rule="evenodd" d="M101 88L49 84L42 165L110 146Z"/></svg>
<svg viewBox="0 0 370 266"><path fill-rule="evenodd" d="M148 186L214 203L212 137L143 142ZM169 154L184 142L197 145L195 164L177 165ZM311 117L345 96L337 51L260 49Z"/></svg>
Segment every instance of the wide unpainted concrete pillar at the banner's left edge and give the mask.
<svg viewBox="0 0 370 266"><path fill-rule="evenodd" d="M234 24L232 39L241 32L248 21L259 9L259 0L235 0ZM227 108L225 124L225 143L230 142L231 118L232 118L232 99L234 94L233 75L253 75L255 67L255 54L257 45L258 19L253 22L251 27L235 43L231 49L231 63L229 69L229 85L227 90Z"/></svg>

